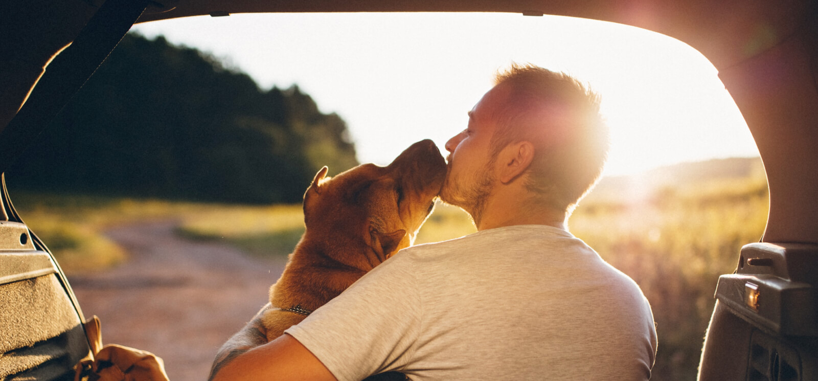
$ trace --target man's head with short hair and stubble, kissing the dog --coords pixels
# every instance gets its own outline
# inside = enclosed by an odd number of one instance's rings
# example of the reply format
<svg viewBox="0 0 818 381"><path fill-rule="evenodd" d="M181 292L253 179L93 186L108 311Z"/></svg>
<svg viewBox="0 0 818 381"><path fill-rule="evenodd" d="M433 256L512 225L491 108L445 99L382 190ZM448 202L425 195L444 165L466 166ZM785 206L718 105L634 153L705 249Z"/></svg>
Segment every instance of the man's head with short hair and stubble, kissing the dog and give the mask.
<svg viewBox="0 0 818 381"><path fill-rule="evenodd" d="M531 159L510 181L524 182L533 206L570 212L607 157L599 96L567 74L532 65L512 65L495 83L470 111L469 127L446 144L450 168L441 199L477 222L494 187L506 183L497 181L497 158L522 144Z"/></svg>

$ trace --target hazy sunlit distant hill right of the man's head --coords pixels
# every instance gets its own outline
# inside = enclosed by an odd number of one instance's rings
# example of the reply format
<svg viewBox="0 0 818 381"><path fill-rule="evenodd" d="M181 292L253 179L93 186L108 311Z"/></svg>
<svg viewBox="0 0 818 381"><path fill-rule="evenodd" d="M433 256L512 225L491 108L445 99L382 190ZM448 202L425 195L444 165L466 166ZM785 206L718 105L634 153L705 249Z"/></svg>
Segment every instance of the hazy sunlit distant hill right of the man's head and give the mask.
<svg viewBox="0 0 818 381"><path fill-rule="evenodd" d="M659 190L685 192L714 185L765 181L764 166L759 157L710 159L672 164L636 175L604 177L585 202L647 199Z"/></svg>

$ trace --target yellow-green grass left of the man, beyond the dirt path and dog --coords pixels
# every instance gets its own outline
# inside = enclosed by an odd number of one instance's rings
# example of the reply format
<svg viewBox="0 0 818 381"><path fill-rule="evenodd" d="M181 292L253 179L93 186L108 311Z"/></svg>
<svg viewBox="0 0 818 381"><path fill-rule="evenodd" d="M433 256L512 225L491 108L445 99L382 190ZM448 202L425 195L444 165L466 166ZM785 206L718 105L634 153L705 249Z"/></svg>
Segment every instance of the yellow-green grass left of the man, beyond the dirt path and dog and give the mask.
<svg viewBox="0 0 818 381"><path fill-rule="evenodd" d="M191 240L224 240L247 253L286 256L304 231L301 205L236 205L122 199L88 195L12 194L20 216L66 271L104 271L127 253L107 239L110 226L176 220L178 234ZM460 208L438 204L416 244L476 231Z"/></svg>

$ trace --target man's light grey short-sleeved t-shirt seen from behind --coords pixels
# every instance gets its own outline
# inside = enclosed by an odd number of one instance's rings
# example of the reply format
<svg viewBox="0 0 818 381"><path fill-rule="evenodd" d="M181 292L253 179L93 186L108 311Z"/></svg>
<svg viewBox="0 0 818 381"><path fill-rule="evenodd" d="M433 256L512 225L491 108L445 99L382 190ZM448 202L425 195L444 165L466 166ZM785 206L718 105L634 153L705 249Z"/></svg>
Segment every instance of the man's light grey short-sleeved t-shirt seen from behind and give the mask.
<svg viewBox="0 0 818 381"><path fill-rule="evenodd" d="M286 333L340 381L646 380L657 345L639 286L542 225L404 249Z"/></svg>

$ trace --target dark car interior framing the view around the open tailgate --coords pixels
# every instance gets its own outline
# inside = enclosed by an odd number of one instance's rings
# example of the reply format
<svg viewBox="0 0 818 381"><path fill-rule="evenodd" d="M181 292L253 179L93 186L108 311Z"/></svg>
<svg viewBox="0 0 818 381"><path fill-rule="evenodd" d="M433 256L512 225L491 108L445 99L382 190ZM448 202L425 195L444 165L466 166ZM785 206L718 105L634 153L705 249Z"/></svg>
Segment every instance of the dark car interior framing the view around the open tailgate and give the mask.
<svg viewBox="0 0 818 381"><path fill-rule="evenodd" d="M762 241L744 243L735 273L713 290L718 302L699 379L818 379L816 1L32 0L4 8L0 172L47 133L135 23L245 12L509 12L611 21L688 43L719 70L756 141L770 190ZM89 351L82 310L5 184L0 206L0 379L74 379L74 364Z"/></svg>

